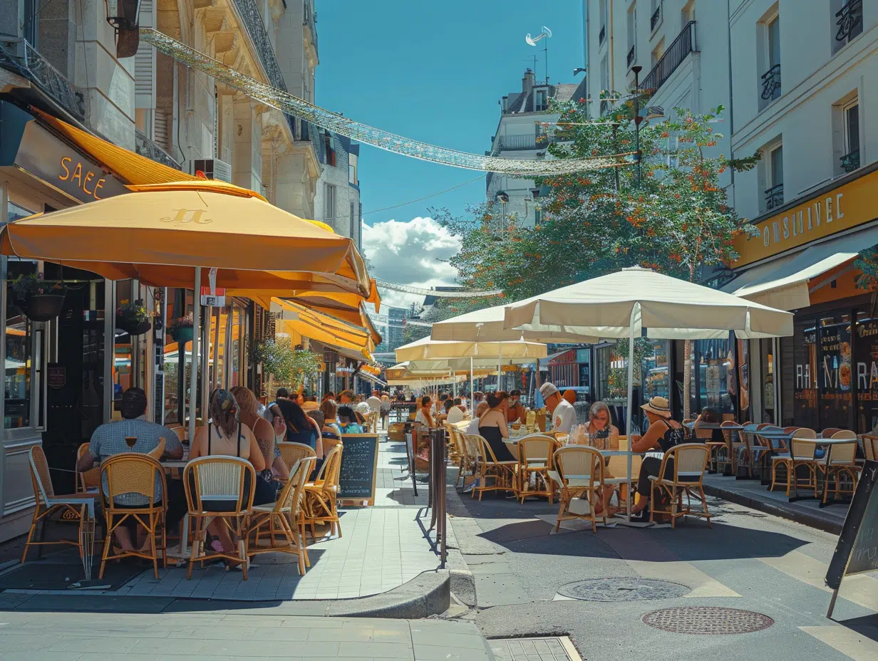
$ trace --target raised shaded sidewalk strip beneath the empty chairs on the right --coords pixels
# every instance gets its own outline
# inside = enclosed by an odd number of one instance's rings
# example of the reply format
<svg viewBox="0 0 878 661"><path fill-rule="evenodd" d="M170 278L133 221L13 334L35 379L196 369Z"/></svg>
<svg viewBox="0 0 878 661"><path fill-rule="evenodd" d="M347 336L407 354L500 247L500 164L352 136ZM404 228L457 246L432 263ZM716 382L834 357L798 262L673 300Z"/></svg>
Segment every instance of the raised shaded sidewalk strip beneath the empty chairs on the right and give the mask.
<svg viewBox="0 0 878 661"><path fill-rule="evenodd" d="M705 475L704 492L709 496L716 496L766 514L774 514L774 516L802 523L811 528L818 528L833 535L838 535L841 532L841 527L847 516L846 504L820 507L817 499L801 499L791 503L785 489L779 487L774 492L768 491L768 487L761 485L758 479ZM800 489L799 494L800 496L812 495L810 490L806 489Z"/></svg>

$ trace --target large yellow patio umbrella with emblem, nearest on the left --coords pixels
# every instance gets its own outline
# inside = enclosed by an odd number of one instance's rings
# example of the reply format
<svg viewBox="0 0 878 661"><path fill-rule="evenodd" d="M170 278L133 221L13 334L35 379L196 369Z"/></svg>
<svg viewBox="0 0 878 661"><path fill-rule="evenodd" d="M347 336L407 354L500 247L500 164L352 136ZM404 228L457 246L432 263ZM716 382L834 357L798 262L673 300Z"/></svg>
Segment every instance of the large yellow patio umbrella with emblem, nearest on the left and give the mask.
<svg viewBox="0 0 878 661"><path fill-rule="evenodd" d="M200 267L202 286L215 268L216 286L228 289L370 295L353 241L252 190L211 180L128 188L132 195L13 221L0 252L151 286L189 288Z"/></svg>

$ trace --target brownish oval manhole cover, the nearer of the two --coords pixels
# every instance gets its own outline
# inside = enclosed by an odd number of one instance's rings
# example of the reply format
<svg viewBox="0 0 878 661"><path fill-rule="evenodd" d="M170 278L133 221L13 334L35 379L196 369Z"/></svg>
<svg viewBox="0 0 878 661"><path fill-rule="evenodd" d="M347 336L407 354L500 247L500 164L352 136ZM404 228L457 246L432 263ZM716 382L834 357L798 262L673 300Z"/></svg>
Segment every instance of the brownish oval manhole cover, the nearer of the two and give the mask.
<svg viewBox="0 0 878 661"><path fill-rule="evenodd" d="M663 608L647 613L644 624L675 634L700 636L723 636L725 634L749 634L768 629L774 620L768 615L751 610L710 606Z"/></svg>

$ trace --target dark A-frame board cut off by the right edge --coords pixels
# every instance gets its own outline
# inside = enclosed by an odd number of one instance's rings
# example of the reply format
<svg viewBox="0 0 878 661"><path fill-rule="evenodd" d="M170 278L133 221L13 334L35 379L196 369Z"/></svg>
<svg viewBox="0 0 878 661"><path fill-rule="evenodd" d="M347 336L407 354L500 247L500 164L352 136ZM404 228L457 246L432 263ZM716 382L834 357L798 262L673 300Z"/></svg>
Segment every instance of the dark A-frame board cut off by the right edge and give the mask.
<svg viewBox="0 0 878 661"><path fill-rule="evenodd" d="M878 571L878 462L867 461L853 494L845 525L826 572L826 585L838 593L841 579ZM833 595L832 604L835 603ZM832 607L827 615L831 617Z"/></svg>

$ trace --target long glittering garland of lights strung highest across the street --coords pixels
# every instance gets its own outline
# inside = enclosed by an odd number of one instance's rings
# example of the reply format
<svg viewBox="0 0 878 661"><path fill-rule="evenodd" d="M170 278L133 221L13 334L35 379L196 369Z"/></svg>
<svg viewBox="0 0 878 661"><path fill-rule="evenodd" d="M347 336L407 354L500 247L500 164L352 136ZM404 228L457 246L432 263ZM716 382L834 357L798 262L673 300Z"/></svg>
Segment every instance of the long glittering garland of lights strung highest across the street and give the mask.
<svg viewBox="0 0 878 661"><path fill-rule="evenodd" d="M385 149L394 154L402 154L421 161L443 163L456 168L499 172L506 175L519 176L554 176L565 175L585 170L615 168L633 163L634 153L610 154L594 158L565 158L542 161L525 161L512 158L498 158L469 154L446 147L436 147L426 142L409 140L396 133L388 133L374 126L360 124L335 112L324 110L309 104L299 97L293 97L284 90L260 83L255 78L241 74L234 68L214 60L198 50L171 39L167 34L149 28L140 28L140 39L151 44L163 54L184 62L192 68L212 75L219 83L241 90L263 104L270 105L299 119L305 119L316 126L339 133L365 144Z"/></svg>

